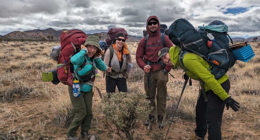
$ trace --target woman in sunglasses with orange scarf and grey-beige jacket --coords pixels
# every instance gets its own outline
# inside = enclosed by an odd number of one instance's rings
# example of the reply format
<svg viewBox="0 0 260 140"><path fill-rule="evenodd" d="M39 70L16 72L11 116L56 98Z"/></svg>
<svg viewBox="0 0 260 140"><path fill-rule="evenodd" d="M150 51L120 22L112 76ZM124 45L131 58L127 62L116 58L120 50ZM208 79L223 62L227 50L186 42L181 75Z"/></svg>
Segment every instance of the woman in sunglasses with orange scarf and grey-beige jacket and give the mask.
<svg viewBox="0 0 260 140"><path fill-rule="evenodd" d="M118 91L127 92L126 79L128 79L132 66L130 50L125 43L124 33L118 33L113 42L114 44L107 49L104 57L104 63L107 66L105 72L106 92L115 92L116 86ZM110 49L113 49L111 59Z"/></svg>

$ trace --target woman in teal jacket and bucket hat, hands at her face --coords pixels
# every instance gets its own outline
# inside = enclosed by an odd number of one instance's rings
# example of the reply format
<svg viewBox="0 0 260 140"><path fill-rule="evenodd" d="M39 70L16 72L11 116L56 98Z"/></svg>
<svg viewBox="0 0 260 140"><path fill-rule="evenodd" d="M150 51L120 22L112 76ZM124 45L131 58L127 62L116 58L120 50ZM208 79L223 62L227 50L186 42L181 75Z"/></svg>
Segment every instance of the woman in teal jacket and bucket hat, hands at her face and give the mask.
<svg viewBox="0 0 260 140"><path fill-rule="evenodd" d="M104 55L99 46L99 39L96 36L88 36L86 42L81 45L81 51L71 57L71 63L74 65L74 72L81 67L86 60L85 66L76 72L75 76L81 82L79 97L73 96L73 89L68 87L71 104L74 108L75 117L71 122L67 133L67 138L77 140L76 131L81 125L81 137L89 137L89 129L92 121L92 96L93 96L93 72L98 68L106 71L106 65L100 56ZM97 71L96 71L97 72ZM87 80L87 81L86 81ZM88 81L89 80L89 81ZM92 84L91 84L92 83Z"/></svg>

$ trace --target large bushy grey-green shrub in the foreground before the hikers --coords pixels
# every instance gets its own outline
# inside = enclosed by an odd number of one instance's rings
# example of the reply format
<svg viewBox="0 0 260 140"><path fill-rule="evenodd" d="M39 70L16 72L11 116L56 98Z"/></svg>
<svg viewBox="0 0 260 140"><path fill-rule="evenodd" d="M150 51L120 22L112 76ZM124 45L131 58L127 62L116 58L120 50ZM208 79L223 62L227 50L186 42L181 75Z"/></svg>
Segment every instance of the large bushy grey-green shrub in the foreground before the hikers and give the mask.
<svg viewBox="0 0 260 140"><path fill-rule="evenodd" d="M133 139L135 126L141 119L146 119L151 111L145 94L136 92L115 92L110 98L104 96L99 106L104 114L105 126L111 131L110 123L117 128L117 134L123 138L120 131L125 133L128 140Z"/></svg>

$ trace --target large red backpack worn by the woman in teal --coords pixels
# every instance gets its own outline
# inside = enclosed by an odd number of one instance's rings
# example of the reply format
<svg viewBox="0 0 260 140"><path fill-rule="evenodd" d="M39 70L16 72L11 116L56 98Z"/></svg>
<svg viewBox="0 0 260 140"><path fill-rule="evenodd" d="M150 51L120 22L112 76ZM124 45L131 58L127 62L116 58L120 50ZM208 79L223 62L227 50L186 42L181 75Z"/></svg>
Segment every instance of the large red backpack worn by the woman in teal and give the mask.
<svg viewBox="0 0 260 140"><path fill-rule="evenodd" d="M65 30L61 33L61 53L58 58L58 79L65 85L72 86L74 67L71 57L80 51L81 45L85 43L87 35L77 29Z"/></svg>

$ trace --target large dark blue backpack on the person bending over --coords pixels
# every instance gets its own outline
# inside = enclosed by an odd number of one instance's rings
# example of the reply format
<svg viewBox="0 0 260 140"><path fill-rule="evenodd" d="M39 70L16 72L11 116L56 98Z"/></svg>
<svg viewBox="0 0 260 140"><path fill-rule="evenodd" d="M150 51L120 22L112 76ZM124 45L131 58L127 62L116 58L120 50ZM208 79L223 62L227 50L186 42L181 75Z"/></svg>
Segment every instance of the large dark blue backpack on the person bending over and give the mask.
<svg viewBox="0 0 260 140"><path fill-rule="evenodd" d="M212 21L208 26L199 26L199 30L196 30L189 21L181 18L171 24L168 36L173 44L181 47L180 63L184 68L184 55L194 53L212 66L211 73L215 79L219 79L236 62L229 48L227 31L228 26L222 21Z"/></svg>

